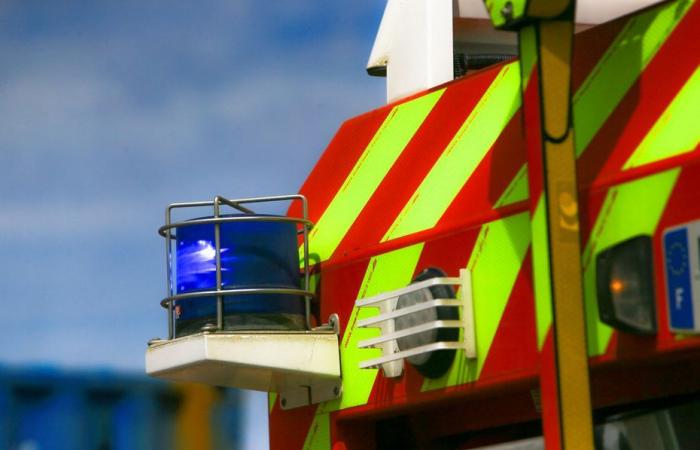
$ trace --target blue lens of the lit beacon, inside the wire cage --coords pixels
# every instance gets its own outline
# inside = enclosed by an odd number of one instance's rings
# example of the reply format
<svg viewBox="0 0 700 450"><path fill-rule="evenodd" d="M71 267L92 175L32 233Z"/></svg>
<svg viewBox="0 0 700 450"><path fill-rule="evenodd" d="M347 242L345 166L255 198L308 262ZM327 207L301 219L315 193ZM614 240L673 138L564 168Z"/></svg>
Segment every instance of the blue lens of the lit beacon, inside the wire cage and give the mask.
<svg viewBox="0 0 700 450"><path fill-rule="evenodd" d="M214 227L200 224L178 228L172 278L178 294L216 289ZM220 227L222 289L299 288L296 224L253 220L223 222ZM205 324L216 322L216 297L176 301L175 318L178 335L198 332ZM303 326L301 297L224 296L225 329L301 329Z"/></svg>

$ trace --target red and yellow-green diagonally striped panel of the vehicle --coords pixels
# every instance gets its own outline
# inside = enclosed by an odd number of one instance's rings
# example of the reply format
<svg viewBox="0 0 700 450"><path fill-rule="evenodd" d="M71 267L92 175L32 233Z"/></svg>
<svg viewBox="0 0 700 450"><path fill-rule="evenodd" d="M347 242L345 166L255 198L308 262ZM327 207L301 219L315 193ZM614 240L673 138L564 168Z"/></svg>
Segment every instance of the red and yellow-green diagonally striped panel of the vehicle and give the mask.
<svg viewBox="0 0 700 450"><path fill-rule="evenodd" d="M619 358L621 348L649 356L698 346L669 332L660 270L660 331L644 345L630 344L598 321L592 284L602 249L648 233L655 236L658 257L661 230L700 218L700 128L692 124L700 105L698 30L698 2L678 1L576 37L573 118L595 367ZM374 448L353 441L362 423L370 427L375 416L422 409L434 422L443 418L443 426L423 430L431 438L516 420L491 410L464 421L440 415L437 405L472 405L476 398L488 404L504 393L527 399L537 388L551 314L533 295L538 259L530 247L520 111L521 80L537 82L532 64L489 68L351 119L331 141L301 193L317 224L310 245L320 261L321 317L338 313L341 319L343 396L293 411L282 411L271 397L273 449ZM411 367L396 380L359 369L378 350L356 344L376 331L354 324L376 312L354 308L355 300L403 287L427 266L451 276L462 267L472 270L478 359L458 356L436 380ZM594 390L594 404L614 402ZM513 410L531 420L536 406L517 403Z"/></svg>

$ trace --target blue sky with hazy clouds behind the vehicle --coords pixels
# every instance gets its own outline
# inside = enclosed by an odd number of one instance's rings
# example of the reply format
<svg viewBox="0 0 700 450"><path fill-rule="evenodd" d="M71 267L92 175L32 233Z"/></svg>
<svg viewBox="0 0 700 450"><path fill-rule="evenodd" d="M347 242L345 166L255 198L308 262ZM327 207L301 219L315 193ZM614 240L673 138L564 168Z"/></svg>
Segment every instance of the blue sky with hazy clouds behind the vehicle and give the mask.
<svg viewBox="0 0 700 450"><path fill-rule="evenodd" d="M296 192L384 2L0 4L0 362L143 370L173 201ZM8 313L9 312L9 313Z"/></svg>

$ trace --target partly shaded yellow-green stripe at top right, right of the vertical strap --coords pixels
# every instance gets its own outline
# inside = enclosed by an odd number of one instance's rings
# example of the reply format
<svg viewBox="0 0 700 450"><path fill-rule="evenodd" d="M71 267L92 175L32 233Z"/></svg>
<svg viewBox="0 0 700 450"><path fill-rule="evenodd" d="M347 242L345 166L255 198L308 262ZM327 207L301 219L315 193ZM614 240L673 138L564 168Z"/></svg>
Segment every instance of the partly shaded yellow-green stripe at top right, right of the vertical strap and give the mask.
<svg viewBox="0 0 700 450"><path fill-rule="evenodd" d="M574 96L580 155L694 1L671 2L634 16ZM671 69L672 70L672 69Z"/></svg>

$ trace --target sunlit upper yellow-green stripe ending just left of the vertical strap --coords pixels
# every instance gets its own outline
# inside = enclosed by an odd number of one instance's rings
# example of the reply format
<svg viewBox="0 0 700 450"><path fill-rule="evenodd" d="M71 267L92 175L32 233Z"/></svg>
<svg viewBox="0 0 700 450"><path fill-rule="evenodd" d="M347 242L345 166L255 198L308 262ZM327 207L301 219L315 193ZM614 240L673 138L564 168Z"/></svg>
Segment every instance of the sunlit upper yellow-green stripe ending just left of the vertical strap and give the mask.
<svg viewBox="0 0 700 450"><path fill-rule="evenodd" d="M503 67L382 241L432 228L520 107L517 63Z"/></svg>

